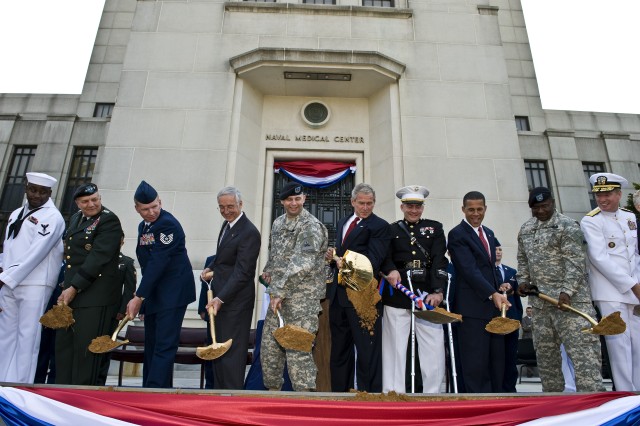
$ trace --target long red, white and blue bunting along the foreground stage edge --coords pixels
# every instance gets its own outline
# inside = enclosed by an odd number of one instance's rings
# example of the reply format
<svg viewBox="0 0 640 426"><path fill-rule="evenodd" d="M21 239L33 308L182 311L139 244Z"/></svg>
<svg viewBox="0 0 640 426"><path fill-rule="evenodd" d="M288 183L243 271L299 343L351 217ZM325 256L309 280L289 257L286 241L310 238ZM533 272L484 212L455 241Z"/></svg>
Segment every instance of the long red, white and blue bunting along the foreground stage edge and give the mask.
<svg viewBox="0 0 640 426"><path fill-rule="evenodd" d="M373 402L284 398L286 393L272 397L267 392L221 396L158 391L0 387L0 419L10 426L630 426L640 417L640 396L631 392Z"/></svg>

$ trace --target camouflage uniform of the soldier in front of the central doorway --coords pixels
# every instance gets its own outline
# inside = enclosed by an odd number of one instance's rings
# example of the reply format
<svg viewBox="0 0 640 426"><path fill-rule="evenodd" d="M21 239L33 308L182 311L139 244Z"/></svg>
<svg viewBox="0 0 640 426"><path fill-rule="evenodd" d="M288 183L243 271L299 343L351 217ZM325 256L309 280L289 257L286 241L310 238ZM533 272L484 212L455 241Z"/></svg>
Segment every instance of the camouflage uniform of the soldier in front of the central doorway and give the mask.
<svg viewBox="0 0 640 426"><path fill-rule="evenodd" d="M271 274L267 293L283 299L280 314L285 324L297 325L315 334L318 331L320 300L325 297L327 229L303 209L292 220L286 214L273 222L269 258L264 272ZM273 337L279 326L270 309L262 332L262 374L269 389L282 387L285 357L289 377L296 391L315 389L317 368L311 353L283 349Z"/></svg>

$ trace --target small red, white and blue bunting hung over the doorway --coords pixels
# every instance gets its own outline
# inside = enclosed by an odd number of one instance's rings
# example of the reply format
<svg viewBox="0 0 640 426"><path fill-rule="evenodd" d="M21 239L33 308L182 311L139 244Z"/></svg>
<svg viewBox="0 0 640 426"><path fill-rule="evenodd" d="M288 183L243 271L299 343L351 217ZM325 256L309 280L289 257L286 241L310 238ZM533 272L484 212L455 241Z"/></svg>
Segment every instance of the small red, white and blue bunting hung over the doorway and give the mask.
<svg viewBox="0 0 640 426"><path fill-rule="evenodd" d="M326 160L276 161L273 169L310 188L327 188L355 173L356 165Z"/></svg>

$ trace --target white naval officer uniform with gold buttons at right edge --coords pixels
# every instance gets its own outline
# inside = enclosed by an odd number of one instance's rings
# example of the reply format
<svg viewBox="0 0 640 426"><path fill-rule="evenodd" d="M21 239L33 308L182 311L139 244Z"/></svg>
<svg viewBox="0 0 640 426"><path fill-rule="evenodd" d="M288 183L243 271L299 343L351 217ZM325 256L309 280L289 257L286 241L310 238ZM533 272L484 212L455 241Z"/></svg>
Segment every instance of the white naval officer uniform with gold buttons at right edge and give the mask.
<svg viewBox="0 0 640 426"><path fill-rule="evenodd" d="M639 304L631 287L640 282L636 217L628 210L595 209L580 222L587 241L591 297L602 316L620 311L623 334L605 336L613 381L618 391L640 391Z"/></svg>

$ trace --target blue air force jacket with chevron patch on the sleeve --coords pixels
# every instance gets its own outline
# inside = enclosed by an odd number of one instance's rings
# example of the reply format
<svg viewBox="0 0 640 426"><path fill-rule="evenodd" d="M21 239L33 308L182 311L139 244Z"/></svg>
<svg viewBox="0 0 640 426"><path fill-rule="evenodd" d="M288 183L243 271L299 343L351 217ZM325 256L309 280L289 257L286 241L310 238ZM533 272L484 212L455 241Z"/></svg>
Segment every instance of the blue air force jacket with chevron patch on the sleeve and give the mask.
<svg viewBox="0 0 640 426"><path fill-rule="evenodd" d="M145 298L145 314L185 306L196 300L184 231L171 213L162 210L155 222L140 223L136 255L142 270L136 294Z"/></svg>

